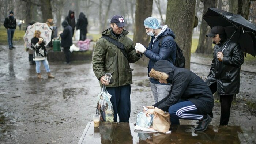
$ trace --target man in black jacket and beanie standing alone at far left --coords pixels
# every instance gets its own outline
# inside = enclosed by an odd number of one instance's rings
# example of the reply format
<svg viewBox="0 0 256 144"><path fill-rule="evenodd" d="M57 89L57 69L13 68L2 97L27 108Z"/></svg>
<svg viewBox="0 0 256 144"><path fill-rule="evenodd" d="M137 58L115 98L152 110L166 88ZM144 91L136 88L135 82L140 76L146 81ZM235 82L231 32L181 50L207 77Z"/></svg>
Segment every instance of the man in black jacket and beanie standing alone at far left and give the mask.
<svg viewBox="0 0 256 144"><path fill-rule="evenodd" d="M14 31L17 27L16 19L13 16L13 12L9 12L9 16L4 20L4 27L7 29L7 38L8 38L8 45L9 49L15 49L12 43Z"/></svg>

